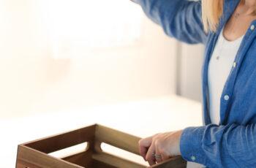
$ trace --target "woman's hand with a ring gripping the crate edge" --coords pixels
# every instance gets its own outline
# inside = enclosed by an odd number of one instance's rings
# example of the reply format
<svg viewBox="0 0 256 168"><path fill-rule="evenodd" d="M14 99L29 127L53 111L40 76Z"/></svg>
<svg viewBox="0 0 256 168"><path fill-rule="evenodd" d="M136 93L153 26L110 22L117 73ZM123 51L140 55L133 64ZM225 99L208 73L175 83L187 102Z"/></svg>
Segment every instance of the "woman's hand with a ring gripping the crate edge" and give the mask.
<svg viewBox="0 0 256 168"><path fill-rule="evenodd" d="M140 155L150 165L165 161L173 156L180 156L181 134L182 130L172 131L140 140Z"/></svg>

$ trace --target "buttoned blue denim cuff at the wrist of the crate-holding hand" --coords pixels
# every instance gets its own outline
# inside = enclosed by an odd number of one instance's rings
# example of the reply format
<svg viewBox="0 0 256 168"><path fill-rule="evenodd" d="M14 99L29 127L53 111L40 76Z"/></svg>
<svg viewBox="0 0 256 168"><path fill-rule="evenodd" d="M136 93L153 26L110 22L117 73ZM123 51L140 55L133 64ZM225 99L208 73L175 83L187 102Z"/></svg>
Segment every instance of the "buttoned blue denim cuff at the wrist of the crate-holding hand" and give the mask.
<svg viewBox="0 0 256 168"><path fill-rule="evenodd" d="M186 161L192 161L198 164L206 163L206 157L203 154L202 139L204 126L189 127L184 129L181 134L180 150L181 156Z"/></svg>

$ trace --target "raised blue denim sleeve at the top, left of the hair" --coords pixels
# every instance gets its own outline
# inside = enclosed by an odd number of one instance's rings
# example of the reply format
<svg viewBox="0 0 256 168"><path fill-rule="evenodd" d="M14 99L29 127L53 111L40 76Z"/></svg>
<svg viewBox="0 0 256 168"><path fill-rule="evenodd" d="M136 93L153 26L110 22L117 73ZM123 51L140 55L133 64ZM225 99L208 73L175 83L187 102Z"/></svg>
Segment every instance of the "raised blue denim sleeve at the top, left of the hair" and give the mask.
<svg viewBox="0 0 256 168"><path fill-rule="evenodd" d="M132 0L141 5L148 18L162 26L170 37L189 44L206 43L200 1Z"/></svg>

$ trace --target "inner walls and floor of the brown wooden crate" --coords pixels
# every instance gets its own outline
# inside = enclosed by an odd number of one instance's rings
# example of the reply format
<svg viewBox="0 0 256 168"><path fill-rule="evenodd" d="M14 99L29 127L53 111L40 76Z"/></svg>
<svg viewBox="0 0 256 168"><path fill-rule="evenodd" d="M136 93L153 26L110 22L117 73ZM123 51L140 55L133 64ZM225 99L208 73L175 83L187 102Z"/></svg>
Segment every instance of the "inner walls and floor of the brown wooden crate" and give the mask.
<svg viewBox="0 0 256 168"><path fill-rule="evenodd" d="M135 162L104 153L100 146L102 142L105 142L117 148L127 150L130 153L138 154L138 140L138 137L108 129L104 126L93 125L23 145L41 153L49 154L58 150L70 148L73 145L88 142L88 146L84 147L83 152L64 158L58 157L58 159L86 168L113 168L120 167L121 165L127 165L127 167L144 167Z"/></svg>

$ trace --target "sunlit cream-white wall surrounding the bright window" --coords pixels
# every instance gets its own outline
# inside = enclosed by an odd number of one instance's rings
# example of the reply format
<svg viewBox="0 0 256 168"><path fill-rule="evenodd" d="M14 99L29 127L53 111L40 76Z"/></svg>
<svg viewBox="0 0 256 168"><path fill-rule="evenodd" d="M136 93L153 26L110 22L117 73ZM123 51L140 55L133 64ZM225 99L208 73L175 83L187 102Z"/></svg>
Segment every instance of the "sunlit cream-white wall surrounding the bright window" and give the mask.
<svg viewBox="0 0 256 168"><path fill-rule="evenodd" d="M32 1L0 1L0 118L176 92L176 42L145 16L136 45L54 59Z"/></svg>

